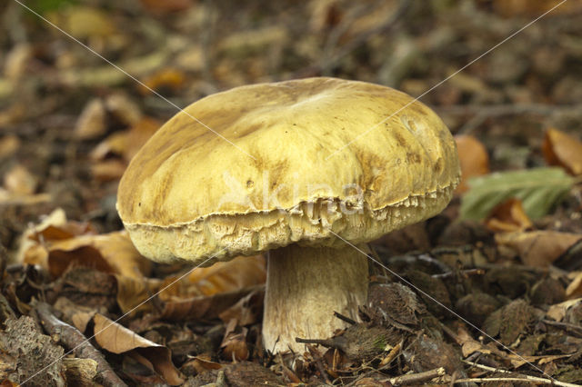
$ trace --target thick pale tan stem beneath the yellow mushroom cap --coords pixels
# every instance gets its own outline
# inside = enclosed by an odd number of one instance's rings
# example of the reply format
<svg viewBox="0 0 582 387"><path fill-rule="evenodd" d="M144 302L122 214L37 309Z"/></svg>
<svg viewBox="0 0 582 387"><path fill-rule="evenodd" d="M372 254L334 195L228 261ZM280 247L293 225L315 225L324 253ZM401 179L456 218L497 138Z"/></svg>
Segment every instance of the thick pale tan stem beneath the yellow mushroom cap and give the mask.
<svg viewBox="0 0 582 387"><path fill-rule="evenodd" d="M365 252L366 245L358 246ZM296 337L326 339L346 322L359 320L357 306L367 299L367 258L344 249L291 244L268 253L263 342L272 352L303 352Z"/></svg>

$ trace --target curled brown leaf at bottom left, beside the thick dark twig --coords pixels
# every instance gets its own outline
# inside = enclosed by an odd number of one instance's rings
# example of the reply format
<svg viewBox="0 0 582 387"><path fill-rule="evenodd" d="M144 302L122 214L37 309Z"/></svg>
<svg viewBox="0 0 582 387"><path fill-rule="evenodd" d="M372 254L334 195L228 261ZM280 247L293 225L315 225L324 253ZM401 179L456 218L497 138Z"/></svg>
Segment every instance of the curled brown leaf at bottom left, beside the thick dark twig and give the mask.
<svg viewBox="0 0 582 387"><path fill-rule="evenodd" d="M157 372L167 383L178 385L184 382L172 363L170 350L165 346L150 342L100 313L95 314L93 321L95 341L102 348L117 354L131 355L131 352L135 352L138 362L140 358L145 358L147 362L144 365Z"/></svg>

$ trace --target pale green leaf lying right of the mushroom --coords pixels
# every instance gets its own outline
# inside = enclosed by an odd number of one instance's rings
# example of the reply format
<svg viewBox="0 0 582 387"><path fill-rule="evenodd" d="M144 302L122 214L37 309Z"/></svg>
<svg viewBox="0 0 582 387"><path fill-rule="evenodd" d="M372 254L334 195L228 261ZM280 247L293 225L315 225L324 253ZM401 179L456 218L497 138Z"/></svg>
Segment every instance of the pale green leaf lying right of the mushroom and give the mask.
<svg viewBox="0 0 582 387"><path fill-rule="evenodd" d="M562 168L533 168L500 172L469 180L469 191L461 202L461 218L481 220L498 203L511 197L521 199L532 219L549 212L574 185L575 179Z"/></svg>

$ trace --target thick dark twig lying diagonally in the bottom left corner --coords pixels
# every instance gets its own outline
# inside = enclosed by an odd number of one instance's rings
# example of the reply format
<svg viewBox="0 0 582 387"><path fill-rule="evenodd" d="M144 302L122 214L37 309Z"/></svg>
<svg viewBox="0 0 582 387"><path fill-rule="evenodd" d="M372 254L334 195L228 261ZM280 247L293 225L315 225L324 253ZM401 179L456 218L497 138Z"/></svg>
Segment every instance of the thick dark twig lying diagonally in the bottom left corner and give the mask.
<svg viewBox="0 0 582 387"><path fill-rule="evenodd" d="M36 303L35 311L38 314L40 323L43 324L45 331L51 335L58 335L59 341L62 342L66 349L75 348L75 356L83 359L93 359L97 362L97 375L100 382L105 386L125 386L119 376L111 369L108 362L105 361L103 354L95 349L90 342L86 341L83 333L75 327L57 319L51 312L51 307L47 303Z"/></svg>

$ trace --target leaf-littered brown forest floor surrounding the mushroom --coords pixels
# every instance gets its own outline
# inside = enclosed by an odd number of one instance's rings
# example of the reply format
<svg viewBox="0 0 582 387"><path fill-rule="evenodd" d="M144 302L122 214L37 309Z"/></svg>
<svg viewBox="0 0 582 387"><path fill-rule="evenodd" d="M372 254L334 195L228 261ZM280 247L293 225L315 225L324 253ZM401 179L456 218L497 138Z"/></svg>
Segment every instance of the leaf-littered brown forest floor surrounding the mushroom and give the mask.
<svg viewBox="0 0 582 387"><path fill-rule="evenodd" d="M575 0L6 0L2 385L581 385L580 20ZM152 263L116 191L179 108L310 76L419 97L463 181L370 244L360 322L281 356L265 258Z"/></svg>

